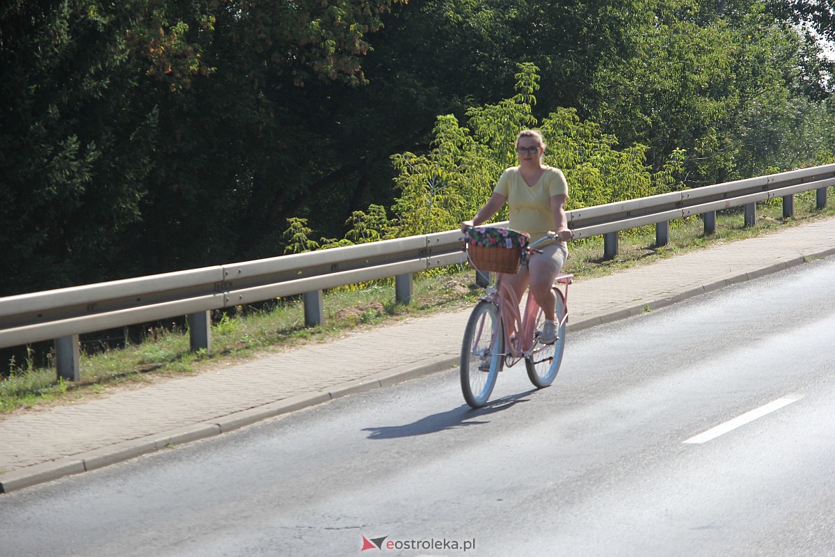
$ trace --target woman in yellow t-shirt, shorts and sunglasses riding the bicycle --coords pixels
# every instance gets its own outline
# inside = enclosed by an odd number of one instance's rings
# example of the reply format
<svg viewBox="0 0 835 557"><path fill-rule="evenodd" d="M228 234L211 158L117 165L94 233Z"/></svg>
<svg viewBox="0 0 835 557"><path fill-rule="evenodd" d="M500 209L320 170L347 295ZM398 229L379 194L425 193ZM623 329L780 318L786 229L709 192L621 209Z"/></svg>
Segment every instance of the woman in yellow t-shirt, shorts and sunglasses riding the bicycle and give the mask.
<svg viewBox="0 0 835 557"><path fill-rule="evenodd" d="M504 170L493 189L493 195L473 216L473 220L461 223L461 230L483 224L505 202L509 209L509 227L528 232L530 241L537 241L547 235L549 230L556 230L558 241L540 244L541 253L529 256L527 264L521 266L517 274L502 277L502 282L516 293L517 303L522 300L525 288L530 286L530 292L542 307L545 317L539 341L550 344L557 338L554 323L556 298L552 286L568 257L565 242L571 239L571 230L565 215L568 184L562 170L543 164L544 153L545 142L539 131L524 129L519 132L516 136L519 166Z"/></svg>

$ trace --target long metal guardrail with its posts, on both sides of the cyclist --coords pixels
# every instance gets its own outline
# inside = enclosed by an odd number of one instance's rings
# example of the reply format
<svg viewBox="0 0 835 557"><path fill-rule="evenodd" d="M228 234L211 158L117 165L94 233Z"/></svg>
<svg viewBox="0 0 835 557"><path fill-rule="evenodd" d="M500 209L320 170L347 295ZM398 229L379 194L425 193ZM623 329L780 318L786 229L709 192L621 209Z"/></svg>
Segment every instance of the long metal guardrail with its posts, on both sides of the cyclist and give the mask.
<svg viewBox="0 0 835 557"><path fill-rule="evenodd" d="M792 170L694 190L597 205L568 213L575 238L605 236L607 258L617 253L617 233L656 225L656 243L669 239L669 222L705 215L715 228L716 210L744 205L746 225L756 221L757 201L782 197L783 215L793 195L835 185L835 165ZM58 374L78 379L78 335L114 327L189 316L191 347L210 347L210 311L275 297L305 296L308 325L322 321L321 292L335 286L394 276L397 301L412 296L412 273L463 263L461 233L409 236L358 246L243 261L124 281L73 286L0 298L0 347L56 339Z"/></svg>

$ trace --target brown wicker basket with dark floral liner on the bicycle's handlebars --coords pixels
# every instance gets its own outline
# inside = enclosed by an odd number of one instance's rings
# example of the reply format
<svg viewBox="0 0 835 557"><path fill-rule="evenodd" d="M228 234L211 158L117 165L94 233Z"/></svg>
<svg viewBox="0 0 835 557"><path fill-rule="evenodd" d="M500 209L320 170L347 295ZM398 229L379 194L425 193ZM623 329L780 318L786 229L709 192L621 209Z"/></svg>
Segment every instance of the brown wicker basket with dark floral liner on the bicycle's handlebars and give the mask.
<svg viewBox="0 0 835 557"><path fill-rule="evenodd" d="M477 271L493 271L513 275L519 271L529 235L517 230L477 226L464 234L470 264Z"/></svg>

